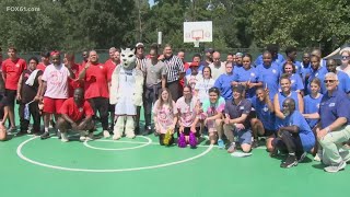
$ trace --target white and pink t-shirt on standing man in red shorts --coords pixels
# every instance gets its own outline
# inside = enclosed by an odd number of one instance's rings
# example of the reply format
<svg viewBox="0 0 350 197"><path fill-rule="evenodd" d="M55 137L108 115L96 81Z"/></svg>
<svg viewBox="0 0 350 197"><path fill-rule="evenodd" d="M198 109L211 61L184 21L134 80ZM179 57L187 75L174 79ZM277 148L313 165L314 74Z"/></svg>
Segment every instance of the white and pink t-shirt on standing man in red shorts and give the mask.
<svg viewBox="0 0 350 197"><path fill-rule="evenodd" d="M46 92L44 96L50 99L68 99L68 78L70 73L65 65L46 67L42 80L46 81Z"/></svg>

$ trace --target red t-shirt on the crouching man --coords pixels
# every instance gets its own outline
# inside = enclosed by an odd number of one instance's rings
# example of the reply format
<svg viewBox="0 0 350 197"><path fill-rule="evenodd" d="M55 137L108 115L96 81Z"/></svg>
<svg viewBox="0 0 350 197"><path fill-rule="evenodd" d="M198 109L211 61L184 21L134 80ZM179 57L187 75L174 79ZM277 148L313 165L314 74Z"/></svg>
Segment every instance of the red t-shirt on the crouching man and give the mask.
<svg viewBox="0 0 350 197"><path fill-rule="evenodd" d="M80 121L86 116L94 115L94 111L88 101L84 101L81 106L78 106L73 97L65 101L60 108L60 113L68 115L73 121Z"/></svg>

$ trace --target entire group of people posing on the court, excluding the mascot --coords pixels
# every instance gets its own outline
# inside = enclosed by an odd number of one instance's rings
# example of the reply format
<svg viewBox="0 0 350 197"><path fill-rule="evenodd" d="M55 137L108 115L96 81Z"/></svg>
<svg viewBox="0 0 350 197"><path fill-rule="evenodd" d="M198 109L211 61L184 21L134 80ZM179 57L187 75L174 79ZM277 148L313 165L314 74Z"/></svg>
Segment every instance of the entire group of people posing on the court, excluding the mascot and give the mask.
<svg viewBox="0 0 350 197"><path fill-rule="evenodd" d="M69 129L79 131L82 141L92 140L96 120L103 136L110 136L116 118L115 106L108 102L114 91L110 80L122 62L118 49L109 49L105 63L98 62L94 50L84 51L80 65L72 54L65 54L61 63L58 51L43 54L40 63L30 58L28 67L16 57L15 48L10 47L8 55L2 62L4 93L0 95L2 140L8 118L8 131L15 128L15 101L21 119L18 136L28 132L30 115L30 132L42 139L49 137L54 117L62 141L69 140ZM287 154L281 167L298 165L310 152L326 165L325 171L343 170L350 161L350 48L340 55L340 66L335 59L323 59L318 49L303 54L300 62L295 47L287 47L284 59L276 45L269 45L255 61L242 53L229 54L222 61L219 51L207 49L203 60L195 55L186 62L185 51L176 56L171 45L162 54L154 46L144 55L144 45L138 43L136 69L144 76L143 135L154 132L160 144L171 146L177 132L179 147L194 148L208 132L211 144L229 153L241 149L247 155L259 146L259 137L265 137L271 157ZM132 116L137 135L140 108Z"/></svg>

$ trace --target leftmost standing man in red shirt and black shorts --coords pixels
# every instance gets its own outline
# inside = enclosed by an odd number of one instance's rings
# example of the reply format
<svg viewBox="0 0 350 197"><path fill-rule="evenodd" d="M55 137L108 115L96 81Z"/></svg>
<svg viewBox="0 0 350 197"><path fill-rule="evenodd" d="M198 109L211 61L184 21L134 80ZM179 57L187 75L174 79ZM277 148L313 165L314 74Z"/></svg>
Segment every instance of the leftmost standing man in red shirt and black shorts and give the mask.
<svg viewBox="0 0 350 197"><path fill-rule="evenodd" d="M9 117L11 128L10 131L15 129L14 119L14 101L18 94L18 83L23 70L26 69L26 62L16 56L16 49L14 47L9 47L8 55L9 59L2 62L2 78L4 81L5 95L9 102Z"/></svg>

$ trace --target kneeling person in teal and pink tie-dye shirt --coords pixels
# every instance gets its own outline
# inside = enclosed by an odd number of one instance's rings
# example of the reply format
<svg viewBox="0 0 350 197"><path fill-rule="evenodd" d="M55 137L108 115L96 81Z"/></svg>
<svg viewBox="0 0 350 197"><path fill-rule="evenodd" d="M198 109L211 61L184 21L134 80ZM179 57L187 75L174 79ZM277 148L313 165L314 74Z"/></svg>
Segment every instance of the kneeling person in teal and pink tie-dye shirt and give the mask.
<svg viewBox="0 0 350 197"><path fill-rule="evenodd" d="M209 99L203 102L202 115L205 119L205 125L208 128L210 144L214 144L219 138L218 144L220 143L219 146L223 146L222 112L224 107L225 100L220 96L219 89L209 89Z"/></svg>

